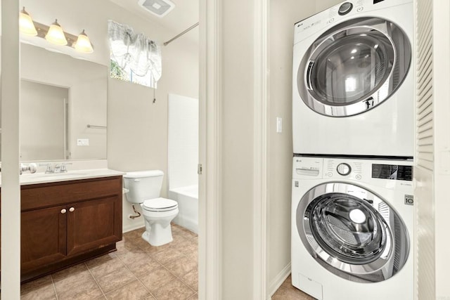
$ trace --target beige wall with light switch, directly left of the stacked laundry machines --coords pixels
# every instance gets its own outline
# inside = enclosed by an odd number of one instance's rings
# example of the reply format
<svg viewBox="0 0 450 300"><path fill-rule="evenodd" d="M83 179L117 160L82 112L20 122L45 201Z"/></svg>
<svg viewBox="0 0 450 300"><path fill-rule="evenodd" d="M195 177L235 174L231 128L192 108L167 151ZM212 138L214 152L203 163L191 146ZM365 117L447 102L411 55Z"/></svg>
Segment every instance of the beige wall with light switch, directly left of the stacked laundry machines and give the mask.
<svg viewBox="0 0 450 300"><path fill-rule="evenodd" d="M294 23L314 14L315 5L308 0L270 1L269 293L290 273ZM282 133L276 133L276 117L283 118Z"/></svg>

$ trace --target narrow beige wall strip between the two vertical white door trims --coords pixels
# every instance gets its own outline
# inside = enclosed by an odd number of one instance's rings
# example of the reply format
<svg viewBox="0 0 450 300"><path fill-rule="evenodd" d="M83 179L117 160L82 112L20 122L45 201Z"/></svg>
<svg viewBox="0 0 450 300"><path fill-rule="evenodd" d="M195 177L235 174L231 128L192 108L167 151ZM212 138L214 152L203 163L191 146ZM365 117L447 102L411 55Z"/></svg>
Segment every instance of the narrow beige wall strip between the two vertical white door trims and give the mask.
<svg viewBox="0 0 450 300"><path fill-rule="evenodd" d="M253 299L252 1L221 1L222 299Z"/></svg>

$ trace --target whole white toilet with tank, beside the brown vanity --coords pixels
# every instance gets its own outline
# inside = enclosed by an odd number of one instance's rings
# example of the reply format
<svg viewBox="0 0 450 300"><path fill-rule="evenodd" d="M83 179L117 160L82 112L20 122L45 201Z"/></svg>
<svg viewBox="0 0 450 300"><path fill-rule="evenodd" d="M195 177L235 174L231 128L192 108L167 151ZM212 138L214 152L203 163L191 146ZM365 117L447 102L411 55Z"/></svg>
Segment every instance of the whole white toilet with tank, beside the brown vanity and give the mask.
<svg viewBox="0 0 450 300"><path fill-rule="evenodd" d="M178 203L160 197L164 172L160 170L128 172L124 176L125 197L132 204L141 204L146 231L142 234L152 246L172 242L170 222L178 214Z"/></svg>

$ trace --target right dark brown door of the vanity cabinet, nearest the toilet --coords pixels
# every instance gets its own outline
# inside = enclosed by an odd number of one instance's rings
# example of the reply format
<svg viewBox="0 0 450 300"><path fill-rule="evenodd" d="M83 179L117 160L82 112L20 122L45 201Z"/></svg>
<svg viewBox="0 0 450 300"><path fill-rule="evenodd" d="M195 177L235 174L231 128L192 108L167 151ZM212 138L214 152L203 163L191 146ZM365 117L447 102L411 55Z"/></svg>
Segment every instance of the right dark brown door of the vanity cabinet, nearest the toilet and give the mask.
<svg viewBox="0 0 450 300"><path fill-rule="evenodd" d="M68 255L122 239L122 199L104 197L68 205Z"/></svg>

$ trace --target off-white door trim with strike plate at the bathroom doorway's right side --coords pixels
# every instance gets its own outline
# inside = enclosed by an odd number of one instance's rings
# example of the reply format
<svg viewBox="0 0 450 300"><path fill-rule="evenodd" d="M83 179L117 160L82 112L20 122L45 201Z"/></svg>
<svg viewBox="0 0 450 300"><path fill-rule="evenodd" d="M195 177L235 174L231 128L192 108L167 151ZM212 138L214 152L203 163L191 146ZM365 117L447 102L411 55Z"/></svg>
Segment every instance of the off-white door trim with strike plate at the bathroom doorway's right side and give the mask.
<svg viewBox="0 0 450 300"><path fill-rule="evenodd" d="M199 299L221 299L221 0L200 0Z"/></svg>

